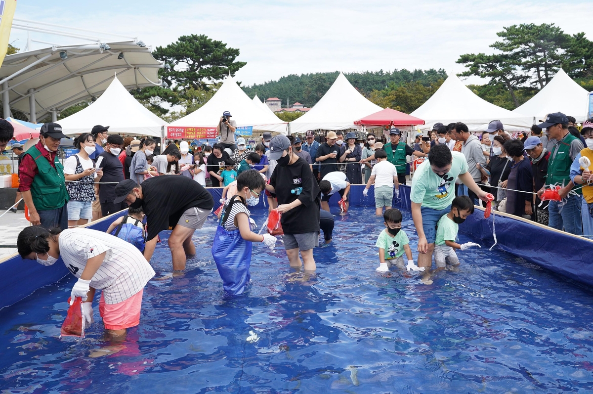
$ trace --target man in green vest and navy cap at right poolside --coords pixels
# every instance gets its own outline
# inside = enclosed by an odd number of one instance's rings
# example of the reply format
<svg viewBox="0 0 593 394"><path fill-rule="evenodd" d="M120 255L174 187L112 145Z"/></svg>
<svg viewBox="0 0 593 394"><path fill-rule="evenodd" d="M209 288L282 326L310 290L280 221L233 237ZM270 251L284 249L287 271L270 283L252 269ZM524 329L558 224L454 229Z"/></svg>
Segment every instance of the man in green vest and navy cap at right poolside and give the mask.
<svg viewBox="0 0 593 394"><path fill-rule="evenodd" d="M538 126L546 128L548 138L555 139L556 142L548 161L546 185L537 192L537 195L541 198L544 189L549 188L550 185L562 186L558 190L558 194L563 198L563 201L550 201L548 205L550 214L548 225L556 230L564 230L567 233L582 236L581 188L575 190L577 194L569 194L569 192L575 186L570 180L570 165L583 150L584 145L579 138L568 131L568 117L562 112L550 113L546 117L546 122Z"/></svg>

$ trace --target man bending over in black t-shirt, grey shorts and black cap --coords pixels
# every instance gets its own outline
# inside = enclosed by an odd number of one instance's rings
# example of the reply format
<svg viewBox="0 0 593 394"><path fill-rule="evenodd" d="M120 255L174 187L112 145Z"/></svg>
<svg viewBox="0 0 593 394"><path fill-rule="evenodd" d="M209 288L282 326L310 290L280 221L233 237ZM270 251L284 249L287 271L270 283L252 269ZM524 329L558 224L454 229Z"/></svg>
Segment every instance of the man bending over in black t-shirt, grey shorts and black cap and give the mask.
<svg viewBox="0 0 593 394"><path fill-rule="evenodd" d="M173 270L185 269L187 256L196 254L193 233L202 228L214 206L208 190L191 178L163 175L146 179L141 186L126 179L117 184L115 193L116 202L142 208L146 214L146 260L150 261L157 246L158 233L173 227L168 241Z"/></svg>

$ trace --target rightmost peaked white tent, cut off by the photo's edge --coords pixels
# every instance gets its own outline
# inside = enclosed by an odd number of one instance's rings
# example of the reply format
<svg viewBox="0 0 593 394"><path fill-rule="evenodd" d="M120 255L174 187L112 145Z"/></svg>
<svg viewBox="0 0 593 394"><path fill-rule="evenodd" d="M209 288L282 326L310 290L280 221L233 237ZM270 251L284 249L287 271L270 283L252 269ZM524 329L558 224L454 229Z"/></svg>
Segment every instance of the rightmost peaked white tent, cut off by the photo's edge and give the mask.
<svg viewBox="0 0 593 394"><path fill-rule="evenodd" d="M534 116L536 122L546 119L549 113L562 112L582 122L587 117L588 107L589 92L560 69L546 86L513 112Z"/></svg>

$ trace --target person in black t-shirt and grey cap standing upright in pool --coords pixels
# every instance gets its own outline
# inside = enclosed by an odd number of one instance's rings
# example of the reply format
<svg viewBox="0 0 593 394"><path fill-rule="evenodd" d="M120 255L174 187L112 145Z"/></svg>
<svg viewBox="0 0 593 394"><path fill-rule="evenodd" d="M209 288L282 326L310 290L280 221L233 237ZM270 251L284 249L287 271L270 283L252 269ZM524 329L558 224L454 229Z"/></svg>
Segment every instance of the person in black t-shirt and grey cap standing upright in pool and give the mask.
<svg viewBox="0 0 593 394"><path fill-rule="evenodd" d="M277 135L270 141L270 160L278 164L266 190L276 193L278 199L276 209L282 214L280 223L286 256L291 267L300 268L300 250L305 271L314 271L313 248L319 243L319 186L311 167L292 151L285 135Z"/></svg>

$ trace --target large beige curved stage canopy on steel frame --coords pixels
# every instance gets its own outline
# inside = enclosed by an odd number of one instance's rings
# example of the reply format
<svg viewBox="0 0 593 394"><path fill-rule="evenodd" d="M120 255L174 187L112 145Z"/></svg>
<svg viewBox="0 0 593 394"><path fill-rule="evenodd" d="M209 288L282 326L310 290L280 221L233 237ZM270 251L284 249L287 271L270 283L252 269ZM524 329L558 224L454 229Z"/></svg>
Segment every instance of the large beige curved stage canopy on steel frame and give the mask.
<svg viewBox="0 0 593 394"><path fill-rule="evenodd" d="M110 42L54 46L15 53L0 68L0 93L6 112L19 110L33 123L83 100L100 96L115 73L127 88L160 85L164 65L144 43Z"/></svg>

